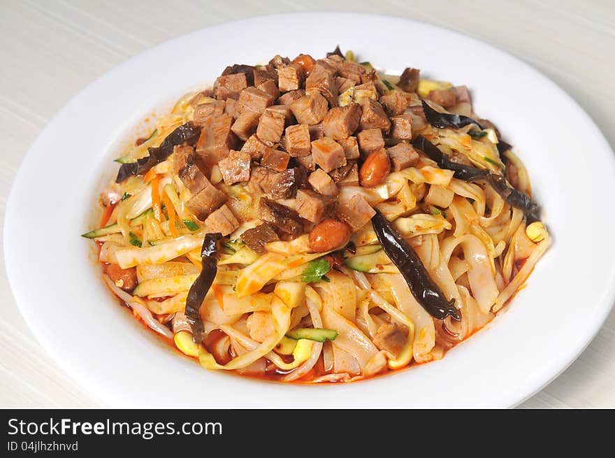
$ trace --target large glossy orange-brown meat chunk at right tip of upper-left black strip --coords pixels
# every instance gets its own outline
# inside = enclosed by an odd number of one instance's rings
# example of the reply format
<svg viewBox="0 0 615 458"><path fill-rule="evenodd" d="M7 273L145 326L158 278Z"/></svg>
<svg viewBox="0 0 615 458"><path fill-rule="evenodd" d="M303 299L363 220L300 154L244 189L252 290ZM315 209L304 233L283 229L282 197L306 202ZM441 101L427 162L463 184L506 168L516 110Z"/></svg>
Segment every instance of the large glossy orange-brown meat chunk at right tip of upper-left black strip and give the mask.
<svg viewBox="0 0 615 458"><path fill-rule="evenodd" d="M203 163L211 167L229 155L236 145L236 137L231 131L233 117L224 115L210 117L201 129L201 137L196 144L196 152Z"/></svg>

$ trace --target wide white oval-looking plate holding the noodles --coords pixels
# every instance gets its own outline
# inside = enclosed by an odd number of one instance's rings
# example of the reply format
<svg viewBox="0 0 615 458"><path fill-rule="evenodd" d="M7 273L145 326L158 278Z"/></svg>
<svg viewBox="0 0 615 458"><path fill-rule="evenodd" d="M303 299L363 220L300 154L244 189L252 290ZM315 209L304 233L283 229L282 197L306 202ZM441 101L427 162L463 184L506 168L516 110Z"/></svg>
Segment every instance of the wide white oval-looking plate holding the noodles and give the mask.
<svg viewBox="0 0 615 458"><path fill-rule="evenodd" d="M317 33L302 34L311 30ZM377 31L377 33L372 33ZM377 36L377 39L375 39ZM152 109L228 64L321 57L340 44L391 72L467 84L528 167L554 245L528 287L442 361L348 385L281 385L205 371L120 308L92 262L97 192L117 145ZM519 59L453 31L393 17L308 13L197 31L133 57L48 124L17 173L4 249L15 299L41 344L113 406L207 408L505 407L537 392L591 341L615 298L615 162L570 96Z"/></svg>

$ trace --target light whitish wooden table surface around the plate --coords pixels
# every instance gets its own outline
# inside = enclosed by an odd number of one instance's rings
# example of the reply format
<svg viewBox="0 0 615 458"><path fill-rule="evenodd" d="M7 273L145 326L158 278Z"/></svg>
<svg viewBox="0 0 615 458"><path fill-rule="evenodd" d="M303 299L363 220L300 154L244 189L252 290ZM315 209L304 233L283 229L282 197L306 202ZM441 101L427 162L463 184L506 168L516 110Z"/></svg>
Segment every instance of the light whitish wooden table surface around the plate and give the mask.
<svg viewBox="0 0 615 458"><path fill-rule="evenodd" d="M456 29L546 73L615 145L612 0L454 1L448 7L444 3L0 0L0 228L22 158L45 124L82 87L168 38L253 15L354 10ZM3 268L0 306L0 408L104 406L51 362L36 342L17 309ZM615 313L581 357L522 406L615 407Z"/></svg>

